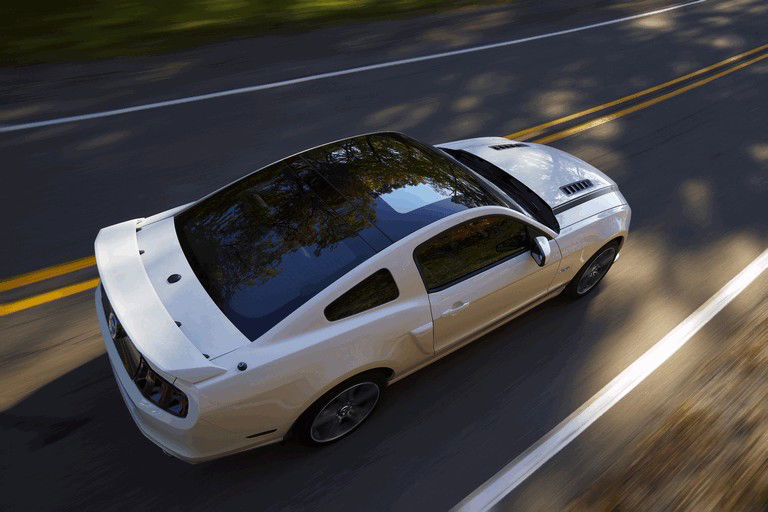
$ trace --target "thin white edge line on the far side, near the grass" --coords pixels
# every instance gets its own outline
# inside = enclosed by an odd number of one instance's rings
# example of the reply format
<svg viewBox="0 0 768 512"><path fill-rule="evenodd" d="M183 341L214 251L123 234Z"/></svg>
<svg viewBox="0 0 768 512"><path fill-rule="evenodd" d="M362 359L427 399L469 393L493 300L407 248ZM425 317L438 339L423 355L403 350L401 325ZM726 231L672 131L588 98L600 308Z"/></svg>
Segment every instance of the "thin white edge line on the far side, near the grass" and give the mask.
<svg viewBox="0 0 768 512"><path fill-rule="evenodd" d="M644 18L646 16L653 16L654 14L661 14L663 12L680 9L681 7L687 7L689 5L700 4L706 1L707 0L695 0L693 2L687 2L684 4L665 7L664 9L657 9L655 11L648 11L640 14L635 14L632 16L625 16L623 18L616 18L613 20L602 21L600 23L593 23L591 25L584 25L581 27L569 28L567 30L558 30L557 32L549 32L547 34L524 37L522 39L513 39L511 41L502 41L500 43L486 44L482 46L473 46L471 48L464 48L462 50L453 50L450 52L433 53L431 55L422 55L421 57L412 57L410 59L379 62L378 64L370 64L368 66L360 66L357 68L342 69L339 71L330 71L328 73L320 73L318 75L310 75L310 76L304 76L301 78L293 78L290 80L282 80L280 82L271 82L268 84L252 85L249 87L240 87L238 89L227 89L225 91L211 92L208 94L200 94L197 96L187 96L185 98L178 98L175 100L157 101L155 103L145 103L143 105L136 105L134 107L118 108L114 110L104 110L101 112L93 112L91 114L80 114L76 116L57 117L54 119L47 119L44 121L34 121L30 123L0 125L0 133L15 132L18 130L29 130L31 128L40 128L43 126L51 126L55 124L74 123L77 121L86 121L88 119L98 119L100 117L119 116L121 114L129 114L131 112L139 112L142 110L171 107L173 105L182 105L184 103L193 103L196 101L205 101L205 100L210 100L214 98L221 98L223 96L233 96L235 94L245 94L249 92L264 91L266 89L275 89L277 87L285 87L286 85L294 85L294 84L300 84L304 82L311 82L313 80L322 80L324 78L333 78L337 76L351 75L353 73L361 73L363 71L372 71L374 69L389 68L393 66L402 66L403 64L413 64L414 62L422 62L425 60L442 59L444 57L453 57L454 55L480 52L483 50L490 50L492 48L501 48L504 46L511 46L514 44L527 43L529 41L536 41L538 39L546 39L548 37L562 36L564 34L572 34L573 32L580 32L582 30L589 30L592 28L604 27L605 25L613 25L614 23L631 21L638 18Z"/></svg>

